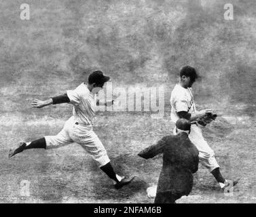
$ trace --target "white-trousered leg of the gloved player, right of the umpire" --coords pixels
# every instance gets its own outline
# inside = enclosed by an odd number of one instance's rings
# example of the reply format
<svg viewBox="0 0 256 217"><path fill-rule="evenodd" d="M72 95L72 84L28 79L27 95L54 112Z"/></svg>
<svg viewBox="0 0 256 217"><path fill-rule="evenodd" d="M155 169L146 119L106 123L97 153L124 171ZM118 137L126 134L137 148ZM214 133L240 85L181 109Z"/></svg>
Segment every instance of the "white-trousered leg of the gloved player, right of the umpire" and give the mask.
<svg viewBox="0 0 256 217"><path fill-rule="evenodd" d="M189 139L197 147L199 151L200 162L202 163L202 165L204 165L209 170L209 172L213 174L213 176L221 186L221 189L223 189L227 184L227 180L223 178L220 172L219 164L215 159L215 153L213 149L211 149L211 147L208 145L208 143L202 136L202 130L196 124L191 125ZM237 182L234 182L234 185L236 184Z"/></svg>

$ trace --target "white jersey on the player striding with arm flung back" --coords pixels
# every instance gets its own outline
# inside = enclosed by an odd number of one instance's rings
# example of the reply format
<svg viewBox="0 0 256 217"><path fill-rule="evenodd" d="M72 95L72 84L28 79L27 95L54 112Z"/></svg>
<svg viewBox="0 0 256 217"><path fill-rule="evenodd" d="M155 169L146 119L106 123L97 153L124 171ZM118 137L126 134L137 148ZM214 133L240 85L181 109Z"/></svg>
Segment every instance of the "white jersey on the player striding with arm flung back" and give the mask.
<svg viewBox="0 0 256 217"><path fill-rule="evenodd" d="M73 104L75 121L92 125L95 117L96 101L94 94L88 90L86 83L81 83L75 90L67 90L67 96Z"/></svg>

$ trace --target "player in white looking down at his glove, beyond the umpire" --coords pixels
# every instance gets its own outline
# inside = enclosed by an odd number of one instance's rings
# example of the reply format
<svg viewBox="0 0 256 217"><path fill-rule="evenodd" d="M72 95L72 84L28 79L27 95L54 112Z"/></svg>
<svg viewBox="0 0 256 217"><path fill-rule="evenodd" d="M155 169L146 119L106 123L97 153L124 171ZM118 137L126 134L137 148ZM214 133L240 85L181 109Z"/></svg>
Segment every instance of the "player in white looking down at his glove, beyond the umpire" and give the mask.
<svg viewBox="0 0 256 217"><path fill-rule="evenodd" d="M185 118L191 121L191 132L189 139L195 144L199 151L200 162L213 174L221 189L227 190L231 186L238 184L238 181L232 182L225 180L219 170L219 164L215 159L215 153L208 146L206 140L202 136L202 131L198 125L198 119L206 117L208 113L212 113L211 109L196 111L196 104L192 92L192 85L198 78L196 70L191 66L184 66L180 71L180 81L175 85L170 96L171 112L170 118L173 122L177 122L179 118ZM177 134L177 128L174 129L174 134ZM227 191L228 192L228 191Z"/></svg>

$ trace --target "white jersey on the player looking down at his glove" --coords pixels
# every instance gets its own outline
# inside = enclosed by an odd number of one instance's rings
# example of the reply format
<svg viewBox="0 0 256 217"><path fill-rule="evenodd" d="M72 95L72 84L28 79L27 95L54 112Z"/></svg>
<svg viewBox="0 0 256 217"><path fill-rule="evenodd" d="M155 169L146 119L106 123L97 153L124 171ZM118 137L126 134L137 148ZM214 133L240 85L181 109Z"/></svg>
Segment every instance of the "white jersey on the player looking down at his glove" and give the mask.
<svg viewBox="0 0 256 217"><path fill-rule="evenodd" d="M175 85L170 95L170 105L172 106L170 119L175 123L179 119L178 113L180 111L194 113L196 111L196 104L194 102L192 88L184 88L179 84Z"/></svg>

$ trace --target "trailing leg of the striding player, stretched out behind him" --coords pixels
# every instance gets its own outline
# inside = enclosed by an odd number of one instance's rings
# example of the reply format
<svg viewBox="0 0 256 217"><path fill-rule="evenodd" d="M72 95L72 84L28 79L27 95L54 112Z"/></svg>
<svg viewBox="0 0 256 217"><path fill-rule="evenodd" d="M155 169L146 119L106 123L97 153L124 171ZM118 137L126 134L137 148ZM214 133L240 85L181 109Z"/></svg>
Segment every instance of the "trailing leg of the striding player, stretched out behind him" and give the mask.
<svg viewBox="0 0 256 217"><path fill-rule="evenodd" d="M17 149L10 149L9 157L14 157L26 149L51 149L73 142L65 127L56 136L44 136L32 142L21 142Z"/></svg>

